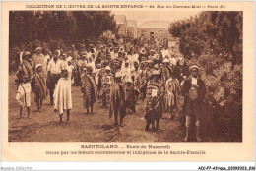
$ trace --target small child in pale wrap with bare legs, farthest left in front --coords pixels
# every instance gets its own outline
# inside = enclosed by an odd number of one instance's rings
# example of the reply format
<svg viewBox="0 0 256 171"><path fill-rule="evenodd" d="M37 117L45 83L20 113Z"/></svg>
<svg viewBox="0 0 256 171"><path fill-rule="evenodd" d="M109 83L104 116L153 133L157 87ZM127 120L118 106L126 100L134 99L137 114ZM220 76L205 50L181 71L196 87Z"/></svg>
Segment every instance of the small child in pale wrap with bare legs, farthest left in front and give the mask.
<svg viewBox="0 0 256 171"><path fill-rule="evenodd" d="M27 75L23 76L22 83L18 86L16 99L20 104L20 118L23 117L23 108L26 107L28 111L28 118L30 118L31 111L31 92L32 86Z"/></svg>

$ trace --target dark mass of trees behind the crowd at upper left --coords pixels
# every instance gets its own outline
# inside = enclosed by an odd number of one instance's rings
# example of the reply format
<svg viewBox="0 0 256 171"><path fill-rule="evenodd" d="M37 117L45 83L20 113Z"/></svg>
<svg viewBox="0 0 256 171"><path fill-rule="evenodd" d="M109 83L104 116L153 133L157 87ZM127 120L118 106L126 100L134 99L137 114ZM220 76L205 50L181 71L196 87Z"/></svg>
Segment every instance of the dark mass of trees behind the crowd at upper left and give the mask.
<svg viewBox="0 0 256 171"><path fill-rule="evenodd" d="M81 41L116 30L109 11L10 11L10 46L34 39Z"/></svg>

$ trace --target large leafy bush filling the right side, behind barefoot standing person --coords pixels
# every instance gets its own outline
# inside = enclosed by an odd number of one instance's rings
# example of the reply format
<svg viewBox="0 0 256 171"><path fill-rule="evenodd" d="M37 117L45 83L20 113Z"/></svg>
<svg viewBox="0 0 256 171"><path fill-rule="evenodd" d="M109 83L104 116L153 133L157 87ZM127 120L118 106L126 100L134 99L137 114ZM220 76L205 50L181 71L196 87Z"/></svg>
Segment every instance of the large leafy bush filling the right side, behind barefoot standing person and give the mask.
<svg viewBox="0 0 256 171"><path fill-rule="evenodd" d="M242 142L242 12L202 12L172 23L169 32L180 38L188 64L201 68L204 130L223 135L224 142Z"/></svg>

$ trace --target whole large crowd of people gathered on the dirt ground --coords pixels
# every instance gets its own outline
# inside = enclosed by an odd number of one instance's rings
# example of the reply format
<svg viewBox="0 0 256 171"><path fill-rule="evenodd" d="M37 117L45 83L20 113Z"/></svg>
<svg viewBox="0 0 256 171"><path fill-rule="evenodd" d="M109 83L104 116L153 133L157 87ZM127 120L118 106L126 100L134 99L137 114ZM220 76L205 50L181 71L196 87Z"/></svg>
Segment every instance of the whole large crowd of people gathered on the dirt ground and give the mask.
<svg viewBox="0 0 256 171"><path fill-rule="evenodd" d="M199 76L199 67L187 65L185 59L168 47L166 38L114 38L99 40L96 44L56 47L38 46L35 53L21 52L17 71L17 96L20 117L27 108L31 117L31 93L37 110L46 96L59 113L60 122L72 109L72 86L80 86L83 105L93 113L96 101L114 115L114 124L123 126L127 113L135 113L138 100L146 101L145 130L157 131L162 113L173 118L178 96L184 96L185 138L195 137L201 142L200 115L205 85ZM118 119L119 117L119 119ZM118 122L119 120L119 122ZM155 126L156 124L156 126ZM194 130L191 133L191 130Z"/></svg>

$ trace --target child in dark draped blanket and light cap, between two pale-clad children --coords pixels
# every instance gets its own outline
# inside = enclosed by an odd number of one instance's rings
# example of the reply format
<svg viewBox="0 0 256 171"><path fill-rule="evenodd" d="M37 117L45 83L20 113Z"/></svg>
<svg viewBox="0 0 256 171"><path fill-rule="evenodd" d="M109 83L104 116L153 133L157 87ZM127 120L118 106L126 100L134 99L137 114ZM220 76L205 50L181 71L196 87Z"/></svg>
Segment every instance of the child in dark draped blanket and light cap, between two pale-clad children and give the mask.
<svg viewBox="0 0 256 171"><path fill-rule="evenodd" d="M34 100L37 105L37 111L40 111L43 99L46 98L46 81L42 72L42 65L35 66L35 74L32 77L32 89L35 94Z"/></svg>

